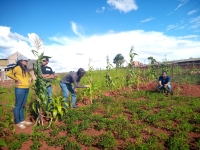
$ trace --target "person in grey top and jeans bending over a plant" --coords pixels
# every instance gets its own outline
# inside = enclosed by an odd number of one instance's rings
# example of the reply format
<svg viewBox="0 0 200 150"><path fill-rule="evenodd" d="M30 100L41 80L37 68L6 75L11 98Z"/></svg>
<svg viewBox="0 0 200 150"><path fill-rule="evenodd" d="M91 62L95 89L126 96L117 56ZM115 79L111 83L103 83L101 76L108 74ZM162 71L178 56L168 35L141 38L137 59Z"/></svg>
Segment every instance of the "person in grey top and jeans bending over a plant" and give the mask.
<svg viewBox="0 0 200 150"><path fill-rule="evenodd" d="M81 86L79 82L81 78L86 74L86 71L83 68L79 68L77 72L70 72L60 81L60 87L62 89L65 102L68 102L68 90L72 94L72 108L78 108L76 106L76 88L88 88L89 85ZM74 87L72 87L72 83ZM65 106L67 107L67 106Z"/></svg>

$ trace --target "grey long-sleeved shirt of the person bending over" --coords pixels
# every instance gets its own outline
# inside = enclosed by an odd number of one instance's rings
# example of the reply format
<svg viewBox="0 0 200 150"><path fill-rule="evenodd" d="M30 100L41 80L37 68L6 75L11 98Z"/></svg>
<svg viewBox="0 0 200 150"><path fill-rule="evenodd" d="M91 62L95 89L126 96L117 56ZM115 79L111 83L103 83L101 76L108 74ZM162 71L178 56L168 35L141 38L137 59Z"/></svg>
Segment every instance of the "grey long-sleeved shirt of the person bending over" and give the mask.
<svg viewBox="0 0 200 150"><path fill-rule="evenodd" d="M62 78L61 82L66 84L74 84L75 88L85 88L84 86L79 85L81 77L77 75L77 72L71 72Z"/></svg>

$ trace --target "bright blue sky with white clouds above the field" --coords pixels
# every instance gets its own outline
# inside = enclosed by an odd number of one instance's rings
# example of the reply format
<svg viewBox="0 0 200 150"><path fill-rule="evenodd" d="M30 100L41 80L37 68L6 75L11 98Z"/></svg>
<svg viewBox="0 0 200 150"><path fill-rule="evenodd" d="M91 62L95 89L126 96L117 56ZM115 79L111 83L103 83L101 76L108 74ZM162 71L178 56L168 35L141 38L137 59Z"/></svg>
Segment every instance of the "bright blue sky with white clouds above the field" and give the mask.
<svg viewBox="0 0 200 150"><path fill-rule="evenodd" d="M200 0L0 1L0 58L33 58L37 35L57 72L87 68L88 58L105 68L118 53L128 61L131 46L143 63L200 57Z"/></svg>

